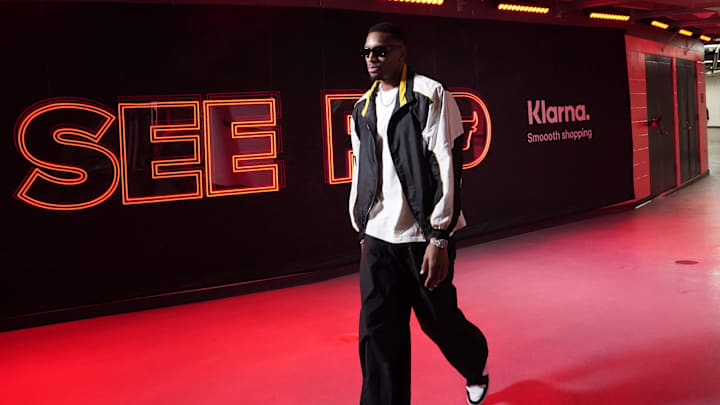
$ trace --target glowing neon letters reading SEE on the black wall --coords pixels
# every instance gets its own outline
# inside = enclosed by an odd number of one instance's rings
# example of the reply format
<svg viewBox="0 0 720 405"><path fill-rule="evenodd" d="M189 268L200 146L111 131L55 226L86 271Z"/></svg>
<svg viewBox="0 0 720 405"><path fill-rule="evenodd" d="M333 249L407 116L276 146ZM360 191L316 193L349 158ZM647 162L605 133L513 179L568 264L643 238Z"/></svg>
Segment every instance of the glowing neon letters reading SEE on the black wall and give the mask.
<svg viewBox="0 0 720 405"><path fill-rule="evenodd" d="M278 191L278 99L206 100L203 117L198 100L121 102L117 154L100 144L116 119L107 109L84 101L38 104L16 126L18 150L35 166L16 196L38 208L82 210L110 198L119 184L124 205Z"/></svg>

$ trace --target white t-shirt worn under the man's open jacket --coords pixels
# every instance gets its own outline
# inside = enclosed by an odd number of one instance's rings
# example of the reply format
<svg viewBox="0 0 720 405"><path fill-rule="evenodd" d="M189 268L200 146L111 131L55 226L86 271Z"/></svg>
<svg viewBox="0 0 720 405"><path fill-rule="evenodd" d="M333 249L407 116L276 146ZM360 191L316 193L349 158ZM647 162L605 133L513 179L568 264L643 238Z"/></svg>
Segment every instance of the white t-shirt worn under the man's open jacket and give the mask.
<svg viewBox="0 0 720 405"><path fill-rule="evenodd" d="M387 141L387 127L395 109L398 88L378 89L375 99L377 139L375 142L381 187L368 216L365 233L389 243L424 242L420 226L410 210L400 185Z"/></svg>

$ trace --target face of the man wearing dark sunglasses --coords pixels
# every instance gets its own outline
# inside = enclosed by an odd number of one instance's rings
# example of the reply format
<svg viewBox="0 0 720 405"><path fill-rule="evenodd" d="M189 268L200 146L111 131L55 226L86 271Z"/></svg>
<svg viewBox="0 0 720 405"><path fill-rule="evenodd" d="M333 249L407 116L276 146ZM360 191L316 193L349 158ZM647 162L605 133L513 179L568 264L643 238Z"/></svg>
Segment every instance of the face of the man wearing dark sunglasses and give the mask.
<svg viewBox="0 0 720 405"><path fill-rule="evenodd" d="M368 74L372 80L396 80L405 65L406 50L402 42L390 34L371 32L365 39L365 49L375 50L365 56ZM384 53L384 56L380 54Z"/></svg>

